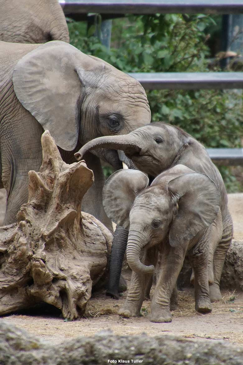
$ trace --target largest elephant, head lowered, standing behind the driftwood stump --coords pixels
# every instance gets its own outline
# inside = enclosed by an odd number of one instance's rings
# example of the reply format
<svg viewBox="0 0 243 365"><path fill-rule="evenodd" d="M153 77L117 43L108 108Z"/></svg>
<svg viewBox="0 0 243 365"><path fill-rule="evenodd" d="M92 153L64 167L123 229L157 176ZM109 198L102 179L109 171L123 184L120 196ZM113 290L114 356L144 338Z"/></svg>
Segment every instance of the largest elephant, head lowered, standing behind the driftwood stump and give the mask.
<svg viewBox="0 0 243 365"><path fill-rule="evenodd" d="M42 163L40 137L49 130L62 158L93 138L126 134L150 123L144 89L134 78L99 58L61 41L43 45L0 42L0 187L7 190L4 224L16 221L28 198L28 171ZM100 158L122 168L115 150L86 153L95 183L82 200L82 210L110 230L104 212L105 181Z"/></svg>

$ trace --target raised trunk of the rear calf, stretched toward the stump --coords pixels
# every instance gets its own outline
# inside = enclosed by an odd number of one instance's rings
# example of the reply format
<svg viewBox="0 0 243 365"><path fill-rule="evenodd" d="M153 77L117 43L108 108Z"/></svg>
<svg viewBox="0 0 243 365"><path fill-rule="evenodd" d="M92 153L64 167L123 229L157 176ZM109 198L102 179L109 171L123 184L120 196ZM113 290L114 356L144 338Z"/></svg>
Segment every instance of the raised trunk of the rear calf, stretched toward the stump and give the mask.
<svg viewBox="0 0 243 365"><path fill-rule="evenodd" d="M77 161L82 160L84 154L90 150L108 148L111 150L122 150L130 154L139 153L138 140L131 134L98 137L86 143L78 152L74 154Z"/></svg>

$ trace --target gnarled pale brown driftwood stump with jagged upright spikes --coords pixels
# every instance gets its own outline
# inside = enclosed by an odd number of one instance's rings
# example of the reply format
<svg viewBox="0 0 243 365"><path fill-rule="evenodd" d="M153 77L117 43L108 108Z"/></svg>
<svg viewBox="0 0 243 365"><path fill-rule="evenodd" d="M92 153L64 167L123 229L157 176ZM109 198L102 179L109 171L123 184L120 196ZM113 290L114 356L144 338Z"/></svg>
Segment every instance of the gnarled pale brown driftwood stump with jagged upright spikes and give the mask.
<svg viewBox="0 0 243 365"><path fill-rule="evenodd" d="M105 271L112 234L81 213L92 170L84 161L63 162L49 131L41 142L43 162L29 172L28 203L18 223L0 228L0 315L46 302L75 319Z"/></svg>

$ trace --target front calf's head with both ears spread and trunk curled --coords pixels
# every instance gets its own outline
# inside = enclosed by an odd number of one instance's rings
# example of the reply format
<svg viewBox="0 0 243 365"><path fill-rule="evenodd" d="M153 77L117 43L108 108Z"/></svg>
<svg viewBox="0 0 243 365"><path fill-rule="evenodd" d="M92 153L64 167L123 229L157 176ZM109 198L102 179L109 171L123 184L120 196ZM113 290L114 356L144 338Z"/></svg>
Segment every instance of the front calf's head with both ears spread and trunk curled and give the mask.
<svg viewBox="0 0 243 365"><path fill-rule="evenodd" d="M119 170L103 188L107 215L129 229L127 260L135 272L152 273L139 256L143 247L188 245L208 227L219 211L220 193L205 174L177 165L161 173L148 187L140 171Z"/></svg>

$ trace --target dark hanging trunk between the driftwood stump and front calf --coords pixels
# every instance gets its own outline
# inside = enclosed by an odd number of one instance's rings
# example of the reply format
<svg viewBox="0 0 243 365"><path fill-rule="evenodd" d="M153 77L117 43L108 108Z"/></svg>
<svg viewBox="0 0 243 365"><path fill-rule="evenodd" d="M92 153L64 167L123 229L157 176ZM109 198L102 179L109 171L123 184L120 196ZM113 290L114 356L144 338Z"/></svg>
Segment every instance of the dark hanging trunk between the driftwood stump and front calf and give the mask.
<svg viewBox="0 0 243 365"><path fill-rule="evenodd" d="M111 249L110 276L108 288L106 291L106 295L111 296L115 299L119 299L119 280L121 276L123 258L127 248L127 238L128 230L123 227L116 226ZM125 287L124 289L126 290Z"/></svg>

